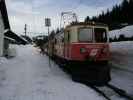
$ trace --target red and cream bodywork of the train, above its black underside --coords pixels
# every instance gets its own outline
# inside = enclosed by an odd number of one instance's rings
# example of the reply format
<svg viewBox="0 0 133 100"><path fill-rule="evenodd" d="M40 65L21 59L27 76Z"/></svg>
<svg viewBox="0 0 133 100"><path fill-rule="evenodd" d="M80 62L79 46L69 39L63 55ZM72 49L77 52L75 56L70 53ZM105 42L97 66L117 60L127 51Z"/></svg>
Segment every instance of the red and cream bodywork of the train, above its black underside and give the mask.
<svg viewBox="0 0 133 100"><path fill-rule="evenodd" d="M70 61L110 59L108 26L96 23L74 23L55 36L55 55Z"/></svg>

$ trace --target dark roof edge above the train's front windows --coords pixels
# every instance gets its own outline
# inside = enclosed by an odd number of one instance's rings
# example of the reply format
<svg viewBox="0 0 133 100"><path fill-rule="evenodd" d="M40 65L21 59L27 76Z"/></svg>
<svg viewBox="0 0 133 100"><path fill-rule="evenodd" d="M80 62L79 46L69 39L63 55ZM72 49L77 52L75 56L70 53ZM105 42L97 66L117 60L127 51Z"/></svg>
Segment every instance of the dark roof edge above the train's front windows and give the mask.
<svg viewBox="0 0 133 100"><path fill-rule="evenodd" d="M67 27L72 27L72 26L77 26L77 25L90 25L90 26L103 26L103 27L108 27L107 24L103 23L97 23L97 22L73 22Z"/></svg>

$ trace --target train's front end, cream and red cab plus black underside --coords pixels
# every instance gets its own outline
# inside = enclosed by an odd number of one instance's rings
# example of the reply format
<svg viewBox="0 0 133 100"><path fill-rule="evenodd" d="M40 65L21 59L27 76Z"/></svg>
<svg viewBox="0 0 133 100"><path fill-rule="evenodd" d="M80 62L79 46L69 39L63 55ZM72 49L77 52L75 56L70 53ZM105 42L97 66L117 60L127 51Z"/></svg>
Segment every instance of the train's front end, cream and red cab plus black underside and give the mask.
<svg viewBox="0 0 133 100"><path fill-rule="evenodd" d="M94 84L110 81L110 49L106 25L79 23L65 33L65 57L73 75Z"/></svg>

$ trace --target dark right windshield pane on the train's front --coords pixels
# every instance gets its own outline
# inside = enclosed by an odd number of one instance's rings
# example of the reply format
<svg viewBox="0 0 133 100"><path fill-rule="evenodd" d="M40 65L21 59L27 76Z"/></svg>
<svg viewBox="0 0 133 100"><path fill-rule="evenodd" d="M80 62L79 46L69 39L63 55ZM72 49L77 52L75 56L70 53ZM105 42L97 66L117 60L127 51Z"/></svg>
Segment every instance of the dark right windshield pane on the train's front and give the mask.
<svg viewBox="0 0 133 100"><path fill-rule="evenodd" d="M107 42L107 32L103 28L95 28L95 41L96 42Z"/></svg>

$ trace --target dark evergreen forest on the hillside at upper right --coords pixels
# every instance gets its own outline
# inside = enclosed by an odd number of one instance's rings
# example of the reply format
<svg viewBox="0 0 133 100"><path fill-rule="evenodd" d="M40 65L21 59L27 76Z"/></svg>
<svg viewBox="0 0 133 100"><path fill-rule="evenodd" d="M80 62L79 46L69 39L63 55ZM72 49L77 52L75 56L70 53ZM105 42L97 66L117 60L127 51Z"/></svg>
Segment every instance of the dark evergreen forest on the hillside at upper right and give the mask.
<svg viewBox="0 0 133 100"><path fill-rule="evenodd" d="M133 24L133 0L123 0L121 4L113 6L111 10L102 11L98 16L85 18L85 22L95 21L105 23L110 30L119 29Z"/></svg>

